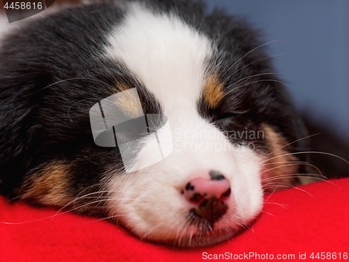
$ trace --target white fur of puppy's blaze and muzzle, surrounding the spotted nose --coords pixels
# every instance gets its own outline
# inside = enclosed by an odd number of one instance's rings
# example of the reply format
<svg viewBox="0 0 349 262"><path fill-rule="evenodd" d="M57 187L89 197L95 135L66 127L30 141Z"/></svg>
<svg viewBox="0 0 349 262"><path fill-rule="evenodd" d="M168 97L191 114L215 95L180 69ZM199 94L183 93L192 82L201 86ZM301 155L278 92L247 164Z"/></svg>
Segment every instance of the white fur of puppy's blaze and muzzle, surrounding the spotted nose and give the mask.
<svg viewBox="0 0 349 262"><path fill-rule="evenodd" d="M214 45L174 15L154 14L130 3L124 21L109 36L106 54L121 61L154 94L168 117L172 153L153 166L114 175L107 185L108 208L133 233L149 240L176 240L195 235L188 226L193 205L181 191L198 170L219 170L232 193L228 211L214 229L234 232L248 224L262 208L259 157L248 147L233 146L198 113L198 101ZM159 137L168 136L158 133ZM154 138L153 138L154 139ZM144 138L134 170L154 162L158 147Z"/></svg>

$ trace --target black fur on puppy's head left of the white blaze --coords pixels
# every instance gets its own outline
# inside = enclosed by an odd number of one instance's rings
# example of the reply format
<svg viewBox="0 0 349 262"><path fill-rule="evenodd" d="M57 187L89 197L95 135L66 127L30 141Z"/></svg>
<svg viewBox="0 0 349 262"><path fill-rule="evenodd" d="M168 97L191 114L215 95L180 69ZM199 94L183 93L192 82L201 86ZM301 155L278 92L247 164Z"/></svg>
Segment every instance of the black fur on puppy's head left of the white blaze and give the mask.
<svg viewBox="0 0 349 262"><path fill-rule="evenodd" d="M115 93L115 82L138 87L144 112L161 109L124 66L98 58L105 34L122 17L111 4L94 4L31 22L6 39L0 51L1 194L15 196L27 177L54 160L69 164L74 195L98 185L111 166L123 169L117 148L94 144L89 109Z"/></svg>

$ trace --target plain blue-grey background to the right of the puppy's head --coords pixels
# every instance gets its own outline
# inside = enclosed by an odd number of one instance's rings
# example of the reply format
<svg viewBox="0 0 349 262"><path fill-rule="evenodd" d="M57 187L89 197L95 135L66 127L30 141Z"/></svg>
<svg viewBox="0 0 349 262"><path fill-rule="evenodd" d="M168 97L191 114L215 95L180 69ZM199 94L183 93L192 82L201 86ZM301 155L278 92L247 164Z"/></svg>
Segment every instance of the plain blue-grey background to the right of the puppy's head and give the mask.
<svg viewBox="0 0 349 262"><path fill-rule="evenodd" d="M264 30L297 106L349 141L346 0L205 0ZM280 40L280 41L279 41ZM285 54L283 54L285 53Z"/></svg>

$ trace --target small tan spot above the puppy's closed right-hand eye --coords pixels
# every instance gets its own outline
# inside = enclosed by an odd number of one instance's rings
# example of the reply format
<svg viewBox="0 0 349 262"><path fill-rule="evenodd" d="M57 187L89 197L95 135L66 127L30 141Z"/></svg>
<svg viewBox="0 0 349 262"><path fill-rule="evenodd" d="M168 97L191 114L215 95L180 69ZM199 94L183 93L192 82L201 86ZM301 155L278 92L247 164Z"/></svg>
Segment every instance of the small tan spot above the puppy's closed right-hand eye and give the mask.
<svg viewBox="0 0 349 262"><path fill-rule="evenodd" d="M204 101L210 108L216 108L224 96L223 84L217 75L207 76L203 91Z"/></svg>

